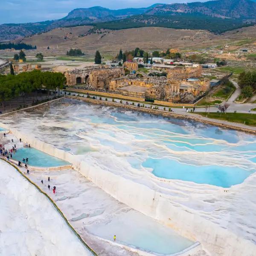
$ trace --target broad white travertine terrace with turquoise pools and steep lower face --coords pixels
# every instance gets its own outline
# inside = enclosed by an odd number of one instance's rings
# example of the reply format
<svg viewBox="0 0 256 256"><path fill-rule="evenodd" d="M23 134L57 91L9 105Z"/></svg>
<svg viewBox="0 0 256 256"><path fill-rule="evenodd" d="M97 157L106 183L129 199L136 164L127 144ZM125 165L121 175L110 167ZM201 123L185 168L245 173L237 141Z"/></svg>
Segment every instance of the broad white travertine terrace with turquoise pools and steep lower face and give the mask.
<svg viewBox="0 0 256 256"><path fill-rule="evenodd" d="M255 136L74 99L0 122L213 255L254 256ZM109 228L116 225L112 221ZM94 228L94 235L107 236L100 225Z"/></svg>

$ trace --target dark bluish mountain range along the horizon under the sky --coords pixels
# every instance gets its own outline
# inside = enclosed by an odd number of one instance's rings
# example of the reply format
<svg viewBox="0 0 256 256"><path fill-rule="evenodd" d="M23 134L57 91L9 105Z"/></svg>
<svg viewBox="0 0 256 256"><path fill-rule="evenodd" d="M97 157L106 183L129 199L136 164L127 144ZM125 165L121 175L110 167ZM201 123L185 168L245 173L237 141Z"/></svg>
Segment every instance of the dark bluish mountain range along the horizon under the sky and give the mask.
<svg viewBox="0 0 256 256"><path fill-rule="evenodd" d="M189 20L190 17L192 20L194 19L192 25L191 20ZM67 26L96 25L101 27L100 24L102 23L102 27L105 28L125 28L125 26L116 26L116 20L123 24L128 23L128 27L148 26L153 20L154 26L161 24L165 27L187 29L208 29L207 24L219 23L220 28L215 29L215 31L212 30L212 32L223 32L241 27L246 22L254 23L256 20L256 3L251 0L214 0L204 3L156 3L147 8L137 9L111 10L100 6L79 8L74 9L66 17L59 20L2 24L0 25L0 40L13 40ZM177 26L177 23L182 24L182 26ZM211 31L211 29L208 30Z"/></svg>

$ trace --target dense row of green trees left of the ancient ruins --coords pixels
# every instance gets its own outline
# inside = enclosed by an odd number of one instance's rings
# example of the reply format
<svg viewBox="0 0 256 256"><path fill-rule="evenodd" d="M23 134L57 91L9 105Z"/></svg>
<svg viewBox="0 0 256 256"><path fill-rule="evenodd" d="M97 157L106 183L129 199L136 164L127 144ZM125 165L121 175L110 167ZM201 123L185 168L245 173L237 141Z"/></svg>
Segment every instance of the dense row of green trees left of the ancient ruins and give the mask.
<svg viewBox="0 0 256 256"><path fill-rule="evenodd" d="M62 73L41 72L34 70L32 72L23 72L17 76L0 75L0 102L4 106L5 102L18 96L25 97L29 93L45 89L49 95L50 90L56 91L62 89L66 83L66 78Z"/></svg>

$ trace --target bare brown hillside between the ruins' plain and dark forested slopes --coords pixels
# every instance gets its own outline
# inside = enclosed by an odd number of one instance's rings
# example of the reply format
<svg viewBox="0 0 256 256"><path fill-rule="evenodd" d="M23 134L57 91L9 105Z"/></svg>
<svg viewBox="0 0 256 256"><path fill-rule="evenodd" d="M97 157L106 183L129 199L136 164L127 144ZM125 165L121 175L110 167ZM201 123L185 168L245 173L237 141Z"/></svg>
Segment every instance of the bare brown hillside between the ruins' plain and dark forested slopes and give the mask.
<svg viewBox="0 0 256 256"><path fill-rule="evenodd" d="M215 35L204 30L169 29L144 27L121 30L101 30L88 34L90 26L53 29L41 35L23 38L22 42L36 45L39 51L50 54L65 54L70 48L80 48L86 55L93 56L98 49L104 54L116 54L120 48L131 50L136 47L151 50L167 48L198 49L239 41L255 41L256 27L246 27Z"/></svg>

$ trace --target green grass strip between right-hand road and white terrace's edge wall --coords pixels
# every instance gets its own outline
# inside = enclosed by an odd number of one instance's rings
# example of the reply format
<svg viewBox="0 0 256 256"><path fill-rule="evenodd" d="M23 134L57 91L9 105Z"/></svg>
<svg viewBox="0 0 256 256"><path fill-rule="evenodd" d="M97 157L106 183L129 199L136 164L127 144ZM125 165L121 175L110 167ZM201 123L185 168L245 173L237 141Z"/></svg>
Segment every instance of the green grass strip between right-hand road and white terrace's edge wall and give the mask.
<svg viewBox="0 0 256 256"><path fill-rule="evenodd" d="M207 116L209 118L225 120L229 122L237 122L245 125L256 126L256 115L245 113L204 113L198 112L201 116Z"/></svg>

